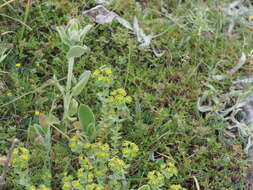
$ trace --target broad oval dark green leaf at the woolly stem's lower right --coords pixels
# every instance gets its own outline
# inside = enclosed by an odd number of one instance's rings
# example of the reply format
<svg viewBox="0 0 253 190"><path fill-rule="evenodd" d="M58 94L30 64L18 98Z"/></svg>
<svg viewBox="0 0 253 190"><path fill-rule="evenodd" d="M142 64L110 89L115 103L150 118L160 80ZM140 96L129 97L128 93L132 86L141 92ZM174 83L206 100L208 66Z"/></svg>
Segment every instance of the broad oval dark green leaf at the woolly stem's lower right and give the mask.
<svg viewBox="0 0 253 190"><path fill-rule="evenodd" d="M81 104L78 112L81 130L84 135L93 140L96 137L95 117L89 106Z"/></svg>

